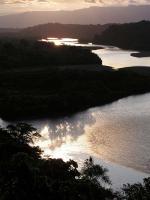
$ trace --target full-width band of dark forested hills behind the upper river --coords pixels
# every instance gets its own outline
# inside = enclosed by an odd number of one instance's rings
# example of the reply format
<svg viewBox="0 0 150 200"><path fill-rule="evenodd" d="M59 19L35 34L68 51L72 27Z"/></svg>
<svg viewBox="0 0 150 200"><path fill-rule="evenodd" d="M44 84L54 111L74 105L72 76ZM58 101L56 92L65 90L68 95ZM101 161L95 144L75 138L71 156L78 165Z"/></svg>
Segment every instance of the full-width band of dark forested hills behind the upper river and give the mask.
<svg viewBox="0 0 150 200"><path fill-rule="evenodd" d="M150 21L126 24L76 25L49 23L24 29L0 29L0 38L77 38L81 42L113 45L124 49L150 51Z"/></svg>

